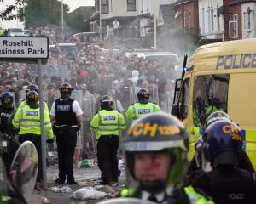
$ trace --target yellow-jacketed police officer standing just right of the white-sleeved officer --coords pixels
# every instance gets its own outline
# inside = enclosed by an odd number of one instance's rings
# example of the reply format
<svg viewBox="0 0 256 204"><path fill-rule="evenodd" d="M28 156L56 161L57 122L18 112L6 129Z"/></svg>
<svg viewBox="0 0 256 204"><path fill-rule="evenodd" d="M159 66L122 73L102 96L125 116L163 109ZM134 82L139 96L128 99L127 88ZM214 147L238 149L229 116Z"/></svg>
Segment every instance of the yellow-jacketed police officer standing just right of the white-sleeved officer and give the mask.
<svg viewBox="0 0 256 204"><path fill-rule="evenodd" d="M100 99L101 110L97 111L90 122L90 128L96 132L97 160L102 171L101 184L118 182L117 151L119 133L126 128L125 118L119 111L113 110L113 99L105 95Z"/></svg>

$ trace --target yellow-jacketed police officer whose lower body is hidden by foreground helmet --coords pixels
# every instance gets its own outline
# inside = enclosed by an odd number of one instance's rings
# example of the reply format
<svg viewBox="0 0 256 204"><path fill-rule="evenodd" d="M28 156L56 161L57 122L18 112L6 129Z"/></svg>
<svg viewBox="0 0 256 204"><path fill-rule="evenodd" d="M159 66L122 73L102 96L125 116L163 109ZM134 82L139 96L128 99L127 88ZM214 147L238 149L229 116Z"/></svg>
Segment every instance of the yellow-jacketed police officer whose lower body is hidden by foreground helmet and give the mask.
<svg viewBox="0 0 256 204"><path fill-rule="evenodd" d="M138 103L132 104L125 112L128 122L152 112L160 112L160 106L149 102L150 93L147 88L141 88L137 92Z"/></svg>

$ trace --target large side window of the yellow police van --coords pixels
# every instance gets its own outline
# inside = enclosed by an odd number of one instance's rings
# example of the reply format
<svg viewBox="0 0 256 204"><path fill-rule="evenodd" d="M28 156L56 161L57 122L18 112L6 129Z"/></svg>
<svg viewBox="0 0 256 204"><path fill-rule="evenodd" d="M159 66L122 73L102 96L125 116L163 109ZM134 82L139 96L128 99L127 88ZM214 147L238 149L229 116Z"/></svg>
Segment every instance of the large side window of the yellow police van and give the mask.
<svg viewBox="0 0 256 204"><path fill-rule="evenodd" d="M193 92L193 122L206 126L207 117L214 111L227 111L230 76L204 75L195 77Z"/></svg>

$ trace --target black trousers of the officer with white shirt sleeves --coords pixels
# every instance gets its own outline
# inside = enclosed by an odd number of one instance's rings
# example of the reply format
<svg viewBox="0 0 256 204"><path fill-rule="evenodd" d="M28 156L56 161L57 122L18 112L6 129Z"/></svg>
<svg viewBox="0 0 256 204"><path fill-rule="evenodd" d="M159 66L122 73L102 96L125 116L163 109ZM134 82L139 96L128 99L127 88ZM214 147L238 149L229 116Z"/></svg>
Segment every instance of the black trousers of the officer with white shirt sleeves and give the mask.
<svg viewBox="0 0 256 204"><path fill-rule="evenodd" d="M73 180L73 156L77 144L75 131L64 131L56 134L56 143L59 160L59 178L61 180Z"/></svg>

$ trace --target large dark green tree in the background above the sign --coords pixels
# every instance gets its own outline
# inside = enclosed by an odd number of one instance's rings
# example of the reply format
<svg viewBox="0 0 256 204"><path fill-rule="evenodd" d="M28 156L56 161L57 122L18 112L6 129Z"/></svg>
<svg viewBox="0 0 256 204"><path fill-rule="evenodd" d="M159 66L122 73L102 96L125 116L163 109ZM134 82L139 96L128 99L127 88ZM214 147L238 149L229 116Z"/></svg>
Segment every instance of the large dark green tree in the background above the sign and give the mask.
<svg viewBox="0 0 256 204"><path fill-rule="evenodd" d="M64 19L69 8L63 5ZM26 26L42 27L49 24L61 25L61 2L57 0L27 0L25 9Z"/></svg>

